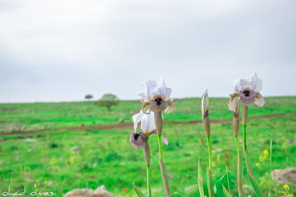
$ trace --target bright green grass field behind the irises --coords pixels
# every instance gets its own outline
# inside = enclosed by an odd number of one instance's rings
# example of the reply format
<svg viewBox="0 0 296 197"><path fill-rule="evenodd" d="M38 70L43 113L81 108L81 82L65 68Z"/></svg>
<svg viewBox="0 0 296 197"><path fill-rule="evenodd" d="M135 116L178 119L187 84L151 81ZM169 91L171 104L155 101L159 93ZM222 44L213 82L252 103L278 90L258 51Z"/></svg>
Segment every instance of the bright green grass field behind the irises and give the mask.
<svg viewBox="0 0 296 197"><path fill-rule="evenodd" d="M265 101L262 108L249 107L247 140L254 173L266 193L269 161L259 160L263 151L269 150L270 136L264 129L274 134L272 168L295 167L296 145L290 140L295 142L296 139L296 97L266 97ZM203 167L208 165L207 142L202 124L186 122L202 120L201 99L178 99L174 103L176 109L164 114L163 127L163 135L169 141L169 146L163 145L163 157L171 192L179 193L175 196L198 196L197 161L201 157ZM232 112L227 103L228 98L210 98L210 120L231 120ZM0 186L11 185L13 170L14 190L22 183L27 191L54 191L56 196L62 196L74 188L105 185L115 196L136 196L131 184L134 182L147 193L143 151L129 144L133 131L131 116L140 109L139 101L120 101L110 112L95 106L94 102L0 104L0 135L11 133L1 136L0 178L3 183ZM120 118L130 123L131 128L96 130L88 127L120 125ZM79 123L86 127L78 131L67 129L78 127ZM26 134L26 131L50 128L64 129ZM15 131L23 134L15 135ZM242 139L242 127L239 139ZM211 124L211 142L213 166L228 167L229 179L233 180L230 181L231 194L238 196L234 183L237 181L237 152L231 121ZM163 196L156 135L149 137L149 146L152 195ZM76 148L71 151L73 147ZM243 184L250 185L243 168ZM224 173L225 169L213 169L214 182ZM227 184L226 178L223 183ZM292 190L292 185L290 188ZM279 196L275 190L284 190L283 185L273 182L272 196ZM245 192L255 196L250 189Z"/></svg>

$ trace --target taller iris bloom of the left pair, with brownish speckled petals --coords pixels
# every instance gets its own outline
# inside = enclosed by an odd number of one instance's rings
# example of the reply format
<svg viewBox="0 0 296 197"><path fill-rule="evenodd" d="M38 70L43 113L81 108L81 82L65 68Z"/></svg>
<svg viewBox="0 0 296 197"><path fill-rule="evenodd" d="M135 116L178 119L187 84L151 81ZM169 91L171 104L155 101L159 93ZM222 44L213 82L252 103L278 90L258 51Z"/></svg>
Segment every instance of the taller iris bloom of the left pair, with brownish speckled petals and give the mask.
<svg viewBox="0 0 296 197"><path fill-rule="evenodd" d="M171 113L175 109L175 104L172 102L173 99L170 98L172 89L165 87L165 82L163 77L160 79L160 82L157 83L155 80L149 80L143 82L144 90L138 95L142 97L143 100L140 100L142 105L142 111L145 114L147 108L150 105L152 112L162 112L165 110L165 113Z"/></svg>

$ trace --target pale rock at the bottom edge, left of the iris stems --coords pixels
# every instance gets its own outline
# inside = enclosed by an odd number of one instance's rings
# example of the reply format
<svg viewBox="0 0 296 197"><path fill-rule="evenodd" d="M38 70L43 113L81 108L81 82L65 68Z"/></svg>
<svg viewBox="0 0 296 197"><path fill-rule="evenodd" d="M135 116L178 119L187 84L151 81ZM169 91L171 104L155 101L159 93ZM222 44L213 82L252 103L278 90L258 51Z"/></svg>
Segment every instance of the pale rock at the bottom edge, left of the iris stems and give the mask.
<svg viewBox="0 0 296 197"><path fill-rule="evenodd" d="M97 187L96 190L84 188L68 191L64 197L112 197L113 194L108 192L104 185Z"/></svg>

